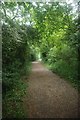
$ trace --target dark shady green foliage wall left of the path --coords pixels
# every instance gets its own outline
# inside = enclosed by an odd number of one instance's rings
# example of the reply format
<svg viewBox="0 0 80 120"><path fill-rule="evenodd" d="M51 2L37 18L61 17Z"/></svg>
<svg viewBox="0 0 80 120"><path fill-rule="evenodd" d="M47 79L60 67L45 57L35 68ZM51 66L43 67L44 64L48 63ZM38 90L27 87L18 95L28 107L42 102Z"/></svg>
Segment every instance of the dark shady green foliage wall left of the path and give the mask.
<svg viewBox="0 0 80 120"><path fill-rule="evenodd" d="M27 86L21 78L23 78L22 76L27 78L29 75L30 44L33 35L37 33L32 26L21 25L7 15L7 10L14 12L15 5L6 2L2 4L4 11L2 11L3 118L24 116L20 101L22 101Z"/></svg>

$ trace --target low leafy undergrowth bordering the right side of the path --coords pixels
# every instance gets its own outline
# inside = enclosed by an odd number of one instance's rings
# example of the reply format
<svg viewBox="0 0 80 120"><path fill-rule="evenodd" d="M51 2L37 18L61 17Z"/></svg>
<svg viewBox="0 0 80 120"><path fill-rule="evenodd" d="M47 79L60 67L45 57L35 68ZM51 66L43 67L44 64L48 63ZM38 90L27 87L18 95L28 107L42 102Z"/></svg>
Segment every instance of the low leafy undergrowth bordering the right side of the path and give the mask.
<svg viewBox="0 0 80 120"><path fill-rule="evenodd" d="M43 63L53 73L56 73L61 78L66 80L68 83L70 83L75 89L80 91L80 87L79 87L80 83L78 82L78 78L76 76L76 74L78 74L78 71L75 70L73 71L73 69L70 69L70 65L65 66L65 64L62 64L60 66L56 65L55 67L55 64L52 65L45 61Z"/></svg>

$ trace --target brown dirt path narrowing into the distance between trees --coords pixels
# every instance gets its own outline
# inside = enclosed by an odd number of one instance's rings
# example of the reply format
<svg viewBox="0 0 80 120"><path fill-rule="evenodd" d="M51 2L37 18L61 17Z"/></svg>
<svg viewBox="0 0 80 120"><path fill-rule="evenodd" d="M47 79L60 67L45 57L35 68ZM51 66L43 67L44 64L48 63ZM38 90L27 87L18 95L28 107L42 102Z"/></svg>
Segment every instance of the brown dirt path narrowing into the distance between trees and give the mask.
<svg viewBox="0 0 80 120"><path fill-rule="evenodd" d="M32 63L28 84L24 105L29 118L78 117L77 91L40 62Z"/></svg>

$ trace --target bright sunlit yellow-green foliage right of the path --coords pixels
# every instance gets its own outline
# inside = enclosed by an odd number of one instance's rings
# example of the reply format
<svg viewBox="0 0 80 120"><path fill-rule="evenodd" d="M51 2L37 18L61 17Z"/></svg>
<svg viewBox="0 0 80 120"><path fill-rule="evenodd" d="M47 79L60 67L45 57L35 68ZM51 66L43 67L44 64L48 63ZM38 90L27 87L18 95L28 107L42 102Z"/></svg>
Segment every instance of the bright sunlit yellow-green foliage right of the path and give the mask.
<svg viewBox="0 0 80 120"><path fill-rule="evenodd" d="M42 60L53 72L78 86L78 39L72 6L53 2L34 9Z"/></svg>

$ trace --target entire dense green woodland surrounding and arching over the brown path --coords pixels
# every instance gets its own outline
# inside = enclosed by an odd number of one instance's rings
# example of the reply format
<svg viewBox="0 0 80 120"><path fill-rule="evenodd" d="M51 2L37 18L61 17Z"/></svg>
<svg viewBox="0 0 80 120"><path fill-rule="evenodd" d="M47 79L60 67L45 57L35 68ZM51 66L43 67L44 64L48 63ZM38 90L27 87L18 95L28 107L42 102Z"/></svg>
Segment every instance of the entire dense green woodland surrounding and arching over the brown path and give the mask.
<svg viewBox="0 0 80 120"><path fill-rule="evenodd" d="M59 2L2 3L3 117L24 116L19 108L27 89L23 79L31 71L31 61L42 60L77 88L79 30L76 7L77 4L74 8L72 4Z"/></svg>

